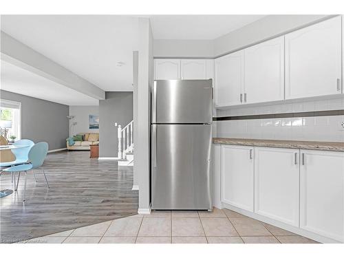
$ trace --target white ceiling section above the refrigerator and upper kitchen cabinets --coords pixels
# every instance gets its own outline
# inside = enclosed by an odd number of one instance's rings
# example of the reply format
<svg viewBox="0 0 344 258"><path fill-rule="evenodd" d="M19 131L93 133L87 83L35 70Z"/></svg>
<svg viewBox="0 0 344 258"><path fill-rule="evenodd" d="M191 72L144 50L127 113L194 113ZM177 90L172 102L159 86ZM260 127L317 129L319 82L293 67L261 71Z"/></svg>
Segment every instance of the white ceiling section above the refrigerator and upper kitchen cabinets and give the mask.
<svg viewBox="0 0 344 258"><path fill-rule="evenodd" d="M216 39L264 15L155 15L154 39Z"/></svg>

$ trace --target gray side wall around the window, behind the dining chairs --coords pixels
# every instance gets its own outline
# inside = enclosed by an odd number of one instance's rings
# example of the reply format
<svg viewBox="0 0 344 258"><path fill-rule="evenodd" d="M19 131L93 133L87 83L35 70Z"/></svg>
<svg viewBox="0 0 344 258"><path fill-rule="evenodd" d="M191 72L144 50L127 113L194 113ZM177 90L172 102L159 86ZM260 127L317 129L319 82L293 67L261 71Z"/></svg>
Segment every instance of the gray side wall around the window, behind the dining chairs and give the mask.
<svg viewBox="0 0 344 258"><path fill-rule="evenodd" d="M49 149L66 147L69 107L1 90L1 98L21 103L21 138L45 141Z"/></svg>

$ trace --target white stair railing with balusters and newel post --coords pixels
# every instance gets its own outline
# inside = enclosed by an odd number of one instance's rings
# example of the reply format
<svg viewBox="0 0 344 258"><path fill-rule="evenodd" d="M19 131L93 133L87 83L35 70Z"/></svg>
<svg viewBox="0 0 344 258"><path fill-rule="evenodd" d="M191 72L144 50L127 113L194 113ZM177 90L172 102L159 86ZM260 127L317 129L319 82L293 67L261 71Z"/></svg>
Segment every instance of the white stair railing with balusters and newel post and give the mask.
<svg viewBox="0 0 344 258"><path fill-rule="evenodd" d="M118 158L126 158L128 152L133 152L133 120L123 129L118 125Z"/></svg>

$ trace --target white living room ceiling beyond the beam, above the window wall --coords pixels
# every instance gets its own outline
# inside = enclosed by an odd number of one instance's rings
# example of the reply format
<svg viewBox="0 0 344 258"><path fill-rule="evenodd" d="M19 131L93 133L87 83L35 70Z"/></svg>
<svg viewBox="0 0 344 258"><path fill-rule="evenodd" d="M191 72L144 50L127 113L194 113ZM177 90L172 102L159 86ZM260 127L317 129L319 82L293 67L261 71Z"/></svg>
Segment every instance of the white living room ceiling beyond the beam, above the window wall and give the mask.
<svg viewBox="0 0 344 258"><path fill-rule="evenodd" d="M1 89L64 105L98 105L98 100L1 61Z"/></svg>

